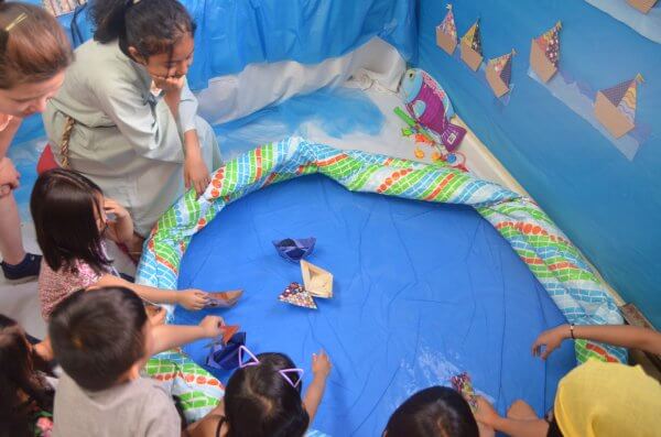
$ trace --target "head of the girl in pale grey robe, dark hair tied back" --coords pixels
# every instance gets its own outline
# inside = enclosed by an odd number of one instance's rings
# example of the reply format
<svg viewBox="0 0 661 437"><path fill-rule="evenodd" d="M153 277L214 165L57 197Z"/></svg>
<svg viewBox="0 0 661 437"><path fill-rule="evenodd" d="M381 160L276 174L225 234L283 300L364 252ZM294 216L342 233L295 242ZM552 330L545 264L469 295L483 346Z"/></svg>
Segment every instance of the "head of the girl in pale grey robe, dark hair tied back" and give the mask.
<svg viewBox="0 0 661 437"><path fill-rule="evenodd" d="M120 47L152 76L181 77L193 63L195 23L177 0L96 0L94 39Z"/></svg>

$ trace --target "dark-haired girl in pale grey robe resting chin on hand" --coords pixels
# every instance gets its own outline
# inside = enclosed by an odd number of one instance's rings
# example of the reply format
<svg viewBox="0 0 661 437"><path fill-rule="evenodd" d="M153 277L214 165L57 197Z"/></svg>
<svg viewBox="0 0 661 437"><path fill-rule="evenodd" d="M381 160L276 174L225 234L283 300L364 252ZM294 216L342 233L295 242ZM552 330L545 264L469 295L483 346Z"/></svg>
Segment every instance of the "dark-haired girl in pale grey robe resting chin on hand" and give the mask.
<svg viewBox="0 0 661 437"><path fill-rule="evenodd" d="M183 194L220 165L209 124L196 117L186 73L195 25L177 0L90 4L94 41L76 50L44 124L63 166L127 207L145 237ZM139 251L141 239L130 249Z"/></svg>

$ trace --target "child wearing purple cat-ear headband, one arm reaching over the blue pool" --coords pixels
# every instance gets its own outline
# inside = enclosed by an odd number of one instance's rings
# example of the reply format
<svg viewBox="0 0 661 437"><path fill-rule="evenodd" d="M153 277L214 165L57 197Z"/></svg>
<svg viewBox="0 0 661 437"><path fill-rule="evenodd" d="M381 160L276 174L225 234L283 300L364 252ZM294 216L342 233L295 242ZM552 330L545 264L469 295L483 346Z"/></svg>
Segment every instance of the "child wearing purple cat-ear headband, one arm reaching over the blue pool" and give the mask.
<svg viewBox="0 0 661 437"><path fill-rule="evenodd" d="M248 362L243 362L246 358ZM224 415L210 434L224 437L305 435L330 373L328 356L323 351L313 354L314 378L304 400L301 400L303 370L296 369L288 356L260 353L254 357L241 347L239 361L240 369L234 372L225 389ZM209 431L202 434L209 435Z"/></svg>

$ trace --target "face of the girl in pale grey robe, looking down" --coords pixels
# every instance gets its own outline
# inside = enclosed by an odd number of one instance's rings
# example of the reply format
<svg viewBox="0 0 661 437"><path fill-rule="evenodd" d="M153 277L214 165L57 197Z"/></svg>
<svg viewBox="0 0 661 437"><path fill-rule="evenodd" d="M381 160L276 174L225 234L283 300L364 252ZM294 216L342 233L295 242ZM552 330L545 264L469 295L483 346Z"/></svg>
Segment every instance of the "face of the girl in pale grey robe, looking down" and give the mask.
<svg viewBox="0 0 661 437"><path fill-rule="evenodd" d="M193 52L195 51L195 41L189 33L186 33L172 47L172 51L152 55L149 58L142 57L134 47L129 47L129 52L140 64L144 65L147 72L152 77L167 78L182 77L188 73L193 64Z"/></svg>

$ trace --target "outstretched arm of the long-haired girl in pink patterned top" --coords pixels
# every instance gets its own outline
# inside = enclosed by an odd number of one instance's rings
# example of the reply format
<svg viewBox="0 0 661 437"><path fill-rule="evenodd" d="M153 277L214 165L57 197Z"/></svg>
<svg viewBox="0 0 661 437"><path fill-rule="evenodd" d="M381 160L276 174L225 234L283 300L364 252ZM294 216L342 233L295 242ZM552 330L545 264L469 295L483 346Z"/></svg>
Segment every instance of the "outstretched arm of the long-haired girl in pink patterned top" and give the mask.
<svg viewBox="0 0 661 437"><path fill-rule="evenodd" d="M186 309L202 309L207 303L207 294L201 289L184 289L180 292L172 289L160 289L147 285L132 284L111 274L102 275L101 278L90 287L90 289L112 286L132 289L143 301L148 301L150 303L180 304Z"/></svg>

